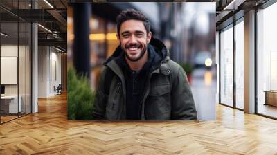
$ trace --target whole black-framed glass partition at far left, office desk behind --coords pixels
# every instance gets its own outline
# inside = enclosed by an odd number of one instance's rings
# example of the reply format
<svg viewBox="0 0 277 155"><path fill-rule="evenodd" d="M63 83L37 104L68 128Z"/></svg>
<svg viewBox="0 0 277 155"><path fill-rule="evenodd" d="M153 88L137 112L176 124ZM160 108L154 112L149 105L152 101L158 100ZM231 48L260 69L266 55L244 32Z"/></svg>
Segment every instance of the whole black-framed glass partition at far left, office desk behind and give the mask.
<svg viewBox="0 0 277 155"><path fill-rule="evenodd" d="M3 2L28 9L30 1ZM1 3L2 4L2 3ZM0 123L31 113L31 24L0 9ZM10 15L10 16L8 16Z"/></svg>

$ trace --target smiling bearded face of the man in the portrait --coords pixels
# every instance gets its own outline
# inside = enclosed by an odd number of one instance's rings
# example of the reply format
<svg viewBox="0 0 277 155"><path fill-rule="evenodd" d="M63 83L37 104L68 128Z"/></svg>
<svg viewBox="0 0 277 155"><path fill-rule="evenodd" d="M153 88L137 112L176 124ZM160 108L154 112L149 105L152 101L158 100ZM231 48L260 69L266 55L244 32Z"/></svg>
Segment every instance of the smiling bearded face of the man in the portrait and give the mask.
<svg viewBox="0 0 277 155"><path fill-rule="evenodd" d="M151 33L147 34L143 21L132 19L121 24L117 37L127 59L136 62L145 54Z"/></svg>

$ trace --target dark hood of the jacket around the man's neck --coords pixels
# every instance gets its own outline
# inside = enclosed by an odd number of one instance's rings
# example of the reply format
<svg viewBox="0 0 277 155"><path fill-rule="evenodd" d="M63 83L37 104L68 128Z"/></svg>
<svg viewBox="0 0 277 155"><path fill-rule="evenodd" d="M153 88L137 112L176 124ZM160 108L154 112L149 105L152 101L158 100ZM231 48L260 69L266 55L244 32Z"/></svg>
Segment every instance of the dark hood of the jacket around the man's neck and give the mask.
<svg viewBox="0 0 277 155"><path fill-rule="evenodd" d="M166 46L159 39L152 37L150 43L148 44L148 50L155 51L155 64L161 64L161 62L166 62L169 59L169 52ZM104 64L107 64L111 60L120 56L122 53L121 46L119 45L114 53L106 60Z"/></svg>

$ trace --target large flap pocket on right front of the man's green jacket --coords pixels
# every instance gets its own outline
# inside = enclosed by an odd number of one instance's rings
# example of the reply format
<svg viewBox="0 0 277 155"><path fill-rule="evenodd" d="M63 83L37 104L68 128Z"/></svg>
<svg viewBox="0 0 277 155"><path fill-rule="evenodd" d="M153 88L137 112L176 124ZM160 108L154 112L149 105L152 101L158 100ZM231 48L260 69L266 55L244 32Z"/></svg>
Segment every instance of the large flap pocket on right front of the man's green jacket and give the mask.
<svg viewBox="0 0 277 155"><path fill-rule="evenodd" d="M165 113L170 115L171 111L171 95L170 84L161 84L151 86L148 98L145 102L145 117L150 117L159 120L163 119L159 116L164 116Z"/></svg>

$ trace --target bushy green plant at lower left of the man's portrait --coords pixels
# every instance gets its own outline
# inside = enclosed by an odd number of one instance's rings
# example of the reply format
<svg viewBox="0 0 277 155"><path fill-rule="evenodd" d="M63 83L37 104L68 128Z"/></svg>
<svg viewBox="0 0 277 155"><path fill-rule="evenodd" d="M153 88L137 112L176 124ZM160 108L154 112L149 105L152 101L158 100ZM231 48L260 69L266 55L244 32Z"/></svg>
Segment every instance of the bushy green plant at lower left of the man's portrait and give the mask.
<svg viewBox="0 0 277 155"><path fill-rule="evenodd" d="M89 79L77 75L73 67L67 72L67 104L69 120L91 120L95 93Z"/></svg>

